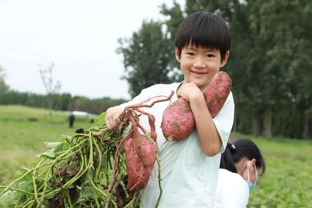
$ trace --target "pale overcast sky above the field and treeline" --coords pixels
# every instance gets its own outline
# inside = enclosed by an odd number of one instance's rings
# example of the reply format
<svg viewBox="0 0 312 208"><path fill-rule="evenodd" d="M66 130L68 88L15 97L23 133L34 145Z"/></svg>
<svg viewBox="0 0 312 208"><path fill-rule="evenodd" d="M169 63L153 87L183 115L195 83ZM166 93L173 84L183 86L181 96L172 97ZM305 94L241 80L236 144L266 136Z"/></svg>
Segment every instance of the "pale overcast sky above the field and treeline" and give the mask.
<svg viewBox="0 0 312 208"><path fill-rule="evenodd" d="M0 65L6 83L45 94L39 66L54 61L61 93L130 99L119 37L131 37L144 19L162 20L171 0L0 0ZM182 6L185 0L177 0Z"/></svg>

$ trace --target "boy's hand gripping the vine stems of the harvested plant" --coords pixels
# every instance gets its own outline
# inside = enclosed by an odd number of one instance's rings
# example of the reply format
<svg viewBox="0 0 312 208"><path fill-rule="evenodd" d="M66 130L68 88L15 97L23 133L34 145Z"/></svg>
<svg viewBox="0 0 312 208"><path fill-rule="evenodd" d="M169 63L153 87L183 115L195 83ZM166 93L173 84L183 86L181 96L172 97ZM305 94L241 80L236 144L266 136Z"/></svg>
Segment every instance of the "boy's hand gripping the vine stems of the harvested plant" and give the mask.
<svg viewBox="0 0 312 208"><path fill-rule="evenodd" d="M109 131L119 131L119 126L121 124L120 120L120 115L123 112L123 109L120 106L114 106L106 111L106 116L105 116L105 122L106 122L106 127ZM129 122L127 122L124 125L124 128L129 125Z"/></svg>

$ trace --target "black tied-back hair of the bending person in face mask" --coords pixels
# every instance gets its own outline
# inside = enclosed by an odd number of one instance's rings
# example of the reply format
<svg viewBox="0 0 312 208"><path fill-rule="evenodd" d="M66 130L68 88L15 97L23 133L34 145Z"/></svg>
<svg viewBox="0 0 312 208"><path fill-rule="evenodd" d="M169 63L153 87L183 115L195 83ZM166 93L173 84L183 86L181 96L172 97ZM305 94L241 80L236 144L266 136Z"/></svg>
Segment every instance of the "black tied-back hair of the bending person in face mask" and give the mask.
<svg viewBox="0 0 312 208"><path fill-rule="evenodd" d="M232 144L227 143L225 151L221 154L220 168L237 173L235 163L243 157L249 160L256 159L256 167L261 168L261 175L266 171L266 164L260 153L259 148L249 139L239 139ZM235 148L233 148L235 147Z"/></svg>

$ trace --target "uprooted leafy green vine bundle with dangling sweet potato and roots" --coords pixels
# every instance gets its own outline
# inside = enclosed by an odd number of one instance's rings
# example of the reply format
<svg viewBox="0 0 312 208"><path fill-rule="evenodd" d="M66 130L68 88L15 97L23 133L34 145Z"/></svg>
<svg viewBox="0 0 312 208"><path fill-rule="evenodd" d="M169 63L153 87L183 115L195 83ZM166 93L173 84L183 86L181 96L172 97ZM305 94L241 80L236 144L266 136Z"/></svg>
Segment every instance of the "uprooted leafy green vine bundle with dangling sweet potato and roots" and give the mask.
<svg viewBox="0 0 312 208"><path fill-rule="evenodd" d="M121 120L123 124L131 121L129 133L109 132L103 113L100 121L87 129L78 129L73 136L63 135L61 142L46 143L50 150L37 155L42 157L40 162L31 169L22 166L14 181L0 186L0 205L10 208L141 207L139 190L145 188L155 160L159 202L162 189L155 119L139 108L170 100L172 95L173 92L151 104L146 104L149 99L126 107ZM148 116L150 134L139 124L138 113ZM138 128L145 135L141 135Z"/></svg>

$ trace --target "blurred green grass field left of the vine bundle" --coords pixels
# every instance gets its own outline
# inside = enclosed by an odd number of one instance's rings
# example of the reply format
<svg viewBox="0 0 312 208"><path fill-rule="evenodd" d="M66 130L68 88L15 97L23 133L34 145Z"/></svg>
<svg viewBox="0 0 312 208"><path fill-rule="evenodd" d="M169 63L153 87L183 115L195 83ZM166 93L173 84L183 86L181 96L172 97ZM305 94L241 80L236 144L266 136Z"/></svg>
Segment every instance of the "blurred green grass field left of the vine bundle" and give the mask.
<svg viewBox="0 0 312 208"><path fill-rule="evenodd" d="M18 167L31 167L39 162L37 154L46 152L44 142L59 142L61 134L73 135L78 128L87 128L91 117L75 116L69 128L69 114L25 106L0 105L0 184L13 180ZM96 122L98 118L93 117ZM37 121L30 121L37 120Z"/></svg>

